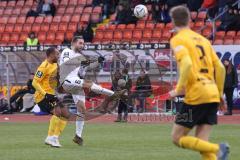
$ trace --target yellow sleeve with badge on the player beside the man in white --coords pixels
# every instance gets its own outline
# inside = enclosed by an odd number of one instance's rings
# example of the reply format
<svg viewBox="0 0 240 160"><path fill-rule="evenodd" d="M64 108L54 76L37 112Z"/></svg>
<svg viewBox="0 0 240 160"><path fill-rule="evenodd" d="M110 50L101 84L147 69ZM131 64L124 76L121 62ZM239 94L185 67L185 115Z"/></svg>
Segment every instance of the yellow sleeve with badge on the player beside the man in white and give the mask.
<svg viewBox="0 0 240 160"><path fill-rule="evenodd" d="M45 76L46 76L46 69L43 67L39 67L32 82L33 87L37 91L39 91L42 95L46 94L46 92L43 90L43 88L40 85L41 81L44 79Z"/></svg>

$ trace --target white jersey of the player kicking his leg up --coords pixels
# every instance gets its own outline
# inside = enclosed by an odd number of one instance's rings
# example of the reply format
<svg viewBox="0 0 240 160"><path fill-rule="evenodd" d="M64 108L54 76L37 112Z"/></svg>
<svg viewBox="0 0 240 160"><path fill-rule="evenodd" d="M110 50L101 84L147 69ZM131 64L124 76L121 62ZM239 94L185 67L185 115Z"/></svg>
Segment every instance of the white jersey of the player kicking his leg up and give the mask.
<svg viewBox="0 0 240 160"><path fill-rule="evenodd" d="M85 60L86 58L80 53L69 48L64 49L59 60L60 83L68 76L84 76L85 69L81 62Z"/></svg>

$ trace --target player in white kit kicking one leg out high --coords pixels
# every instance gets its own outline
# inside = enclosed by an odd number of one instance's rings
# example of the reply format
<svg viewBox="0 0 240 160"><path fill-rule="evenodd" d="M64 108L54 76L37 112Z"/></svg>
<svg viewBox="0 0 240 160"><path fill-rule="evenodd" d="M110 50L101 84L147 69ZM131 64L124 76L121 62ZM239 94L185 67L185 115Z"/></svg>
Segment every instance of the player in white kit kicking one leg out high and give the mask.
<svg viewBox="0 0 240 160"><path fill-rule="evenodd" d="M104 94L113 99L120 96L122 93L114 94L112 90L102 88L100 85L93 83L90 80L85 80L86 71L96 68L104 61L104 57L99 57L97 61L90 62L81 50L84 47L84 40L82 37L74 37L71 43L71 49L66 48L62 51L60 56L60 83L65 92L71 93L74 103L77 106L76 119L76 135L73 141L82 145L82 131L85 119L85 93L83 88L89 89L97 94Z"/></svg>

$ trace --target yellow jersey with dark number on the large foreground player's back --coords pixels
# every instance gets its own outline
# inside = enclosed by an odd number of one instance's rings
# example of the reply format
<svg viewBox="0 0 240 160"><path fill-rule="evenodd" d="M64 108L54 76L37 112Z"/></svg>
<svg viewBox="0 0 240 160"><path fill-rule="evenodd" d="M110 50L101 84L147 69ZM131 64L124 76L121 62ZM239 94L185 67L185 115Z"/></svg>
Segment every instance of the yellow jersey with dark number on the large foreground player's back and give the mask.
<svg viewBox="0 0 240 160"><path fill-rule="evenodd" d="M213 103L220 101L219 88L215 81L214 63L219 63L211 43L191 29L180 30L170 41L178 68L181 69L181 59L189 56L190 72L184 82L184 102L190 105ZM217 78L217 77L216 77ZM224 81L224 80L223 80ZM179 82L177 84L177 87Z"/></svg>

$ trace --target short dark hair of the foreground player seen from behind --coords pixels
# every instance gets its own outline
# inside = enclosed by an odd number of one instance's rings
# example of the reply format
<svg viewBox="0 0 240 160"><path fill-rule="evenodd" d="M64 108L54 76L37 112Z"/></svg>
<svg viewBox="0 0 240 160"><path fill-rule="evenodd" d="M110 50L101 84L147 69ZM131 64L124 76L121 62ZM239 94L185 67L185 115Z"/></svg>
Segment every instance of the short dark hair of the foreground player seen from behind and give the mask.
<svg viewBox="0 0 240 160"><path fill-rule="evenodd" d="M190 20L190 11L185 6L176 6L170 10L170 16L177 27L185 27Z"/></svg>

